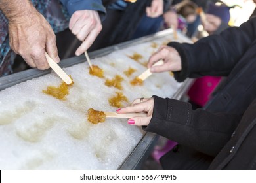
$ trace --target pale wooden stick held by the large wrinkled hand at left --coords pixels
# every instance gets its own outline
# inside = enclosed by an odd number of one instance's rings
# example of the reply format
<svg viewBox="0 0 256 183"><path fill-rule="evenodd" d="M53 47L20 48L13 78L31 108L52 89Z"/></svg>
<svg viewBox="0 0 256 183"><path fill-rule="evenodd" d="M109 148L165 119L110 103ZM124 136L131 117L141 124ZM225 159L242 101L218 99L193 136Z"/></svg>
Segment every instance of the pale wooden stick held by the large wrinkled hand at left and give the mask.
<svg viewBox="0 0 256 183"><path fill-rule="evenodd" d="M53 71L55 71L55 73L60 76L60 78L62 78L62 80L64 80L64 82L66 82L66 84L71 84L72 80L70 78L70 76L68 76L61 68L60 66L58 66L58 64L53 61L53 59L47 54L47 52L45 52L45 57L47 59L48 64L50 65L50 67L53 69Z"/></svg>

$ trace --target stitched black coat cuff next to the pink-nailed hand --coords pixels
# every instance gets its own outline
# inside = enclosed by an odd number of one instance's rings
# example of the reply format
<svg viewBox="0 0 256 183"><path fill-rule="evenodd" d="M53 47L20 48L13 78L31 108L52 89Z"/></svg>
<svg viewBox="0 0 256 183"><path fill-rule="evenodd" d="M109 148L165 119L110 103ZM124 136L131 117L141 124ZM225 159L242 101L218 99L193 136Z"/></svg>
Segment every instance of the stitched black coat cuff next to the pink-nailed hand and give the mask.
<svg viewBox="0 0 256 183"><path fill-rule="evenodd" d="M192 118L190 103L175 99L163 99L155 95L153 97L154 110L150 124L143 126L142 129L169 139L173 139L175 135L179 137L190 127ZM176 137L175 140L177 140Z"/></svg>

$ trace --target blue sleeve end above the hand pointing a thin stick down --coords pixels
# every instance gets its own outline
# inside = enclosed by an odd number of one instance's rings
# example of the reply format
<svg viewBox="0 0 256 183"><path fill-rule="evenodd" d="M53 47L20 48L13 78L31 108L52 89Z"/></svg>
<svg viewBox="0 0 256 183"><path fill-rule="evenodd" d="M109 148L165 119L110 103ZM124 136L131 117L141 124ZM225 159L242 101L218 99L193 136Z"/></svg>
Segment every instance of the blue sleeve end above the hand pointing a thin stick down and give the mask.
<svg viewBox="0 0 256 183"><path fill-rule="evenodd" d="M70 16L77 10L95 10L98 11L100 19L103 20L106 15L106 9L101 0L60 0L68 9Z"/></svg>

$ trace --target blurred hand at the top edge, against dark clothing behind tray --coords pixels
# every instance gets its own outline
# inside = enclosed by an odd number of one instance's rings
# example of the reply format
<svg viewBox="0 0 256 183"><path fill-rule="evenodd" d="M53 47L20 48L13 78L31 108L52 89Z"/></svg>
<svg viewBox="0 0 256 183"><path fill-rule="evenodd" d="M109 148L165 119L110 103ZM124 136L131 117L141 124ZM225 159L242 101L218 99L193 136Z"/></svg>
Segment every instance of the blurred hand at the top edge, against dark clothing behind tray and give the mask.
<svg viewBox="0 0 256 183"><path fill-rule="evenodd" d="M156 18L163 14L163 0L153 0L150 7L146 7L146 16Z"/></svg>

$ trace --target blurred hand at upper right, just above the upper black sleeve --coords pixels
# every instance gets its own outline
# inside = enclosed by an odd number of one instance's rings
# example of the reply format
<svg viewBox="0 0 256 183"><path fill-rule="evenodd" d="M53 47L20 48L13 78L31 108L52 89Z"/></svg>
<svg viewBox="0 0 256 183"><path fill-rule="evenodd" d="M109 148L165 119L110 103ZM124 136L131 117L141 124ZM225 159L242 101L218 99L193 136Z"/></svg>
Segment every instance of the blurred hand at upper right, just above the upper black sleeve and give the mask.
<svg viewBox="0 0 256 183"><path fill-rule="evenodd" d="M221 25L221 18L213 14L205 14L206 21L202 22L203 28L209 34L215 32Z"/></svg>

